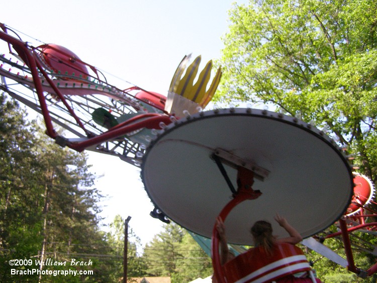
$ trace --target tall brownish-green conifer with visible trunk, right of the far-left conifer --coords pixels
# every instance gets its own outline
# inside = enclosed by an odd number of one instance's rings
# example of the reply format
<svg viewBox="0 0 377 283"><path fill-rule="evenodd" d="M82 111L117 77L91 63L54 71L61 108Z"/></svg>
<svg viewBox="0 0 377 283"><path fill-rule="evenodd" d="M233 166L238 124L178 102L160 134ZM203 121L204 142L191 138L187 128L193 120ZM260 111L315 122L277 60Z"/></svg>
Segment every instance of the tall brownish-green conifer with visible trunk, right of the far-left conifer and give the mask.
<svg viewBox="0 0 377 283"><path fill-rule="evenodd" d="M38 134L39 133L39 134ZM61 148L40 130L36 136L40 146L35 147L43 202L41 203L41 235L39 259L42 262L53 257L59 261L72 258L87 261L92 257L92 266L74 266L77 270L93 270L99 281L104 281L102 262L96 254L102 254L99 245L104 245L98 227L100 219L97 203L101 199L96 188L92 188L94 176L88 172L86 155L68 148ZM92 256L87 256L90 254ZM39 266L39 269L44 269ZM70 266L61 267L71 269ZM106 270L106 269L105 269ZM106 278L106 276L105 276ZM39 276L41 281L49 276ZM64 280L64 278L57 278ZM81 281L87 276L72 276L70 280ZM107 279L106 279L107 280Z"/></svg>

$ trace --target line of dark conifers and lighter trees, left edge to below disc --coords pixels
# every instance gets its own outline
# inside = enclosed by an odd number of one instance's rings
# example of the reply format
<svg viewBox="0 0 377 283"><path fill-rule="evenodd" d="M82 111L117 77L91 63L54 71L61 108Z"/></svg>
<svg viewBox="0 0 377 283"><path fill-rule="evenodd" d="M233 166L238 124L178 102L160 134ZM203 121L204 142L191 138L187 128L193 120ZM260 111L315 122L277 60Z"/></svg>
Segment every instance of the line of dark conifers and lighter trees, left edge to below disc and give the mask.
<svg viewBox="0 0 377 283"><path fill-rule="evenodd" d="M53 143L17 103L0 95L0 281L116 282L123 277L124 219L100 230L102 196L93 187L86 155ZM212 273L210 258L178 225L166 225L140 255L140 239L128 231L128 277L171 276L187 282ZM53 266L92 275L11 274L10 259L93 262ZM23 269L24 267L20 267Z"/></svg>

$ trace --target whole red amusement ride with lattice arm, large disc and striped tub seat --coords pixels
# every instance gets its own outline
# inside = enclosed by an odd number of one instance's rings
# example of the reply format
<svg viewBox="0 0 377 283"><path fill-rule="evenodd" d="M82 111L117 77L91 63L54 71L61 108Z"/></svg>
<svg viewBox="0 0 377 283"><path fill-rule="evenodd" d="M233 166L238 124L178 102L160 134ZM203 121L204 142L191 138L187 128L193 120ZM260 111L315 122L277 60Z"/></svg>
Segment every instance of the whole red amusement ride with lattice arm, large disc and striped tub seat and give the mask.
<svg viewBox="0 0 377 283"><path fill-rule="evenodd" d="M222 74L212 71L212 60L198 75L201 56L193 62L184 56L165 96L136 85L119 89L67 48L33 45L5 24L0 39L7 46L0 90L41 114L60 146L139 167L155 205L150 215L190 231L212 256L217 281L265 282L311 271L299 248L268 259L242 249L252 245L248 224L257 220L286 233L273 224L276 212L289 218L308 248L360 277L377 271L377 263L358 268L352 253L377 255L373 244L352 241L355 232L377 234L371 181L353 170L352 157L336 141L296 117L252 108L205 111ZM217 217L238 255L224 266ZM333 224L336 233L318 236ZM326 247L327 238L342 239L346 258Z"/></svg>

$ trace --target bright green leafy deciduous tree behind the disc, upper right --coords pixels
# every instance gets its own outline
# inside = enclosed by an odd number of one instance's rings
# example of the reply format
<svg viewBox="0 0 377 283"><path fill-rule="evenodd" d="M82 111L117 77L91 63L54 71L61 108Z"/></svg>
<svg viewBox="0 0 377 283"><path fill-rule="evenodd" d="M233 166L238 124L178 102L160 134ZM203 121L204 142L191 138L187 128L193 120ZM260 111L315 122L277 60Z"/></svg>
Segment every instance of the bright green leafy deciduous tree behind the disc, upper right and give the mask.
<svg viewBox="0 0 377 283"><path fill-rule="evenodd" d="M235 5L229 15L218 62L223 85L215 99L270 105L325 129L375 182L377 2L254 0ZM361 237L375 244L375 236ZM370 254L354 256L360 267L375 263ZM354 280L320 261L324 281Z"/></svg>

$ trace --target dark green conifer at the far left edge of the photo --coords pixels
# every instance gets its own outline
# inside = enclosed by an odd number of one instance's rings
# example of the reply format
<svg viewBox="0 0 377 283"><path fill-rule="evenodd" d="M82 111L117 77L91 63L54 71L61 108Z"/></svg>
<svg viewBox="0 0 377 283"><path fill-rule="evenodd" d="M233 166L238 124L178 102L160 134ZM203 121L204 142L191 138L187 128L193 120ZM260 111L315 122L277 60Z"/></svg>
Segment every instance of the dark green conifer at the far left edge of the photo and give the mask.
<svg viewBox="0 0 377 283"><path fill-rule="evenodd" d="M9 259L31 258L42 242L42 202L32 131L18 104L0 95L0 281L7 281ZM27 280L35 276L21 276Z"/></svg>

